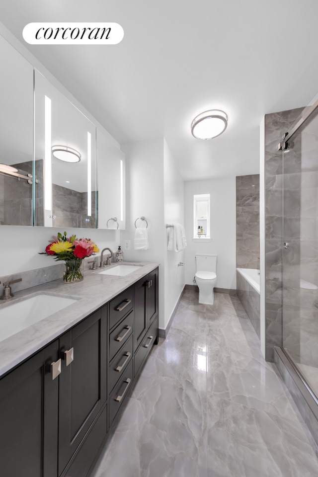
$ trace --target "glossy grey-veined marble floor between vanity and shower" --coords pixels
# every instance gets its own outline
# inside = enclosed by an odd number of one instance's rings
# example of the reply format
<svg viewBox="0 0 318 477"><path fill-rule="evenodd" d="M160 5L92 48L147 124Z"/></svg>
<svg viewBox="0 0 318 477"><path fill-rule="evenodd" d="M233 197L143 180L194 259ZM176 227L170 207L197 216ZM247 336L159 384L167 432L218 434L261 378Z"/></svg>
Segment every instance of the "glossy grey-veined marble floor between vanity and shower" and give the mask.
<svg viewBox="0 0 318 477"><path fill-rule="evenodd" d="M314 477L314 441L237 297L185 290L92 477Z"/></svg>

